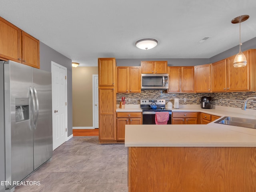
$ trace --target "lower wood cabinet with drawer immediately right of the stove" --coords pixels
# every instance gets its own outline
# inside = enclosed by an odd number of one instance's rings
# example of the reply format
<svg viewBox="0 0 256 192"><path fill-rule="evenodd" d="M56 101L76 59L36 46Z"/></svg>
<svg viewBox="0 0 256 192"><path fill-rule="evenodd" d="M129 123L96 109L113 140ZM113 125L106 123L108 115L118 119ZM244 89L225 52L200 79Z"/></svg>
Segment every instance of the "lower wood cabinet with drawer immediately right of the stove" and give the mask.
<svg viewBox="0 0 256 192"><path fill-rule="evenodd" d="M198 112L172 112L172 124L198 124Z"/></svg>

